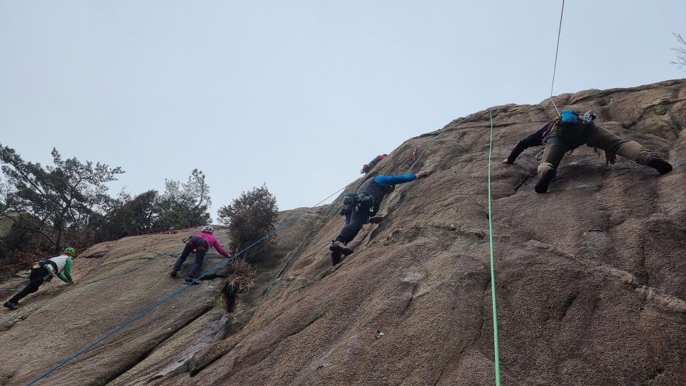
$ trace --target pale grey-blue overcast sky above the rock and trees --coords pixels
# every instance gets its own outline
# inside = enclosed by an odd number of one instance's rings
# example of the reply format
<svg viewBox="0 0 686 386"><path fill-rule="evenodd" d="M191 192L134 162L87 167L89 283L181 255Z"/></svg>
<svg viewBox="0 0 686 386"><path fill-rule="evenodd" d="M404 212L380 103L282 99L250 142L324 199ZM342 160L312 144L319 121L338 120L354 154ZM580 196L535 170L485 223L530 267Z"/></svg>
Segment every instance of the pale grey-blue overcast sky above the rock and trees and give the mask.
<svg viewBox="0 0 686 386"><path fill-rule="evenodd" d="M670 64L686 1L566 1L560 25L561 11L0 0L0 143L43 165L57 148L119 166L113 197L163 193L200 169L216 223L262 184L280 210L331 202L376 155L492 106L686 77Z"/></svg>

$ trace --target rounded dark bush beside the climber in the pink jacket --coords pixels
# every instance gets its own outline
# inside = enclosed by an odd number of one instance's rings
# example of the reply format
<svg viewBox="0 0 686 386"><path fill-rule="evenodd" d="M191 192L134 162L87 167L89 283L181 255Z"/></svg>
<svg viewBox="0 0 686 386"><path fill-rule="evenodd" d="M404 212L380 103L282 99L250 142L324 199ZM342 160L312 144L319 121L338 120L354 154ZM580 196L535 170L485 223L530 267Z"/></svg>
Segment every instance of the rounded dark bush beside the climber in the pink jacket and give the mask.
<svg viewBox="0 0 686 386"><path fill-rule="evenodd" d="M277 215L276 197L266 185L241 193L239 198L217 211L219 222L229 226L229 238L234 253L244 250L273 231ZM267 243L268 241L261 243L255 250L263 248Z"/></svg>

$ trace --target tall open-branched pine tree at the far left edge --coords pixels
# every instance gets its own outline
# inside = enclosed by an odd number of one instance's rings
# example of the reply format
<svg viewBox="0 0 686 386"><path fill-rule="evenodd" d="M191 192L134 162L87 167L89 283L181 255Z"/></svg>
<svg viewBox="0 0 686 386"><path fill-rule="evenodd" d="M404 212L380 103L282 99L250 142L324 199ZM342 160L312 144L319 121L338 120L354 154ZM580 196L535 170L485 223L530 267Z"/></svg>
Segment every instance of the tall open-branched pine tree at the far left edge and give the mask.
<svg viewBox="0 0 686 386"><path fill-rule="evenodd" d="M105 183L123 173L121 167L76 158L62 160L53 148L53 166L25 162L12 148L0 145L2 171L7 177L9 192L5 206L15 211L29 211L40 219L34 231L50 239L55 250L69 236L83 231L92 217L110 197ZM49 228L51 232L46 231Z"/></svg>

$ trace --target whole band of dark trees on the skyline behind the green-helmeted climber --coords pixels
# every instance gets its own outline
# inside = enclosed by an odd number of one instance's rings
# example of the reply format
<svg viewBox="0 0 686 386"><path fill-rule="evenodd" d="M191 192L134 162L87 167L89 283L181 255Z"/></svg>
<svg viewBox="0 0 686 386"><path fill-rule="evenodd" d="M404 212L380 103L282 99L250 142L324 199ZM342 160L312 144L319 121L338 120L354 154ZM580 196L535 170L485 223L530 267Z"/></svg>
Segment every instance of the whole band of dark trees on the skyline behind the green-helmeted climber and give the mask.
<svg viewBox="0 0 686 386"><path fill-rule="evenodd" d="M31 246L42 252L88 246L125 236L209 224L209 186L205 174L193 170L187 182L165 180L165 192L149 189L132 195L107 194L106 183L124 173L120 167L62 159L53 149L53 165L24 161L0 144L0 215L26 217ZM31 214L32 216L24 216Z"/></svg>

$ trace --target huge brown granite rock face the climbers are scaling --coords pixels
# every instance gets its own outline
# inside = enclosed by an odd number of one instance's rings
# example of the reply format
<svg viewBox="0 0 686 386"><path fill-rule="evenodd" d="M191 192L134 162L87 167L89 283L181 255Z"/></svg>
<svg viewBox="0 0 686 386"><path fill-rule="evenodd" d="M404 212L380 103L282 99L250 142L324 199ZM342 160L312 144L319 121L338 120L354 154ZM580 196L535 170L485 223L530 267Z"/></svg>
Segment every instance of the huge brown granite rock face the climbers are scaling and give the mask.
<svg viewBox="0 0 686 386"><path fill-rule="evenodd" d="M556 115L552 102L479 111L376 166L404 174L426 148L412 171L431 174L398 185L335 267L341 197L283 212L295 221L276 235L278 259L232 304L221 277L169 277L177 235L77 259L77 285L53 281L0 312L0 385L494 385L491 239L503 385L685 385L686 79L555 105L594 109L674 170L606 167L583 147L536 194L538 150L499 161ZM225 261L209 253L204 268Z"/></svg>

